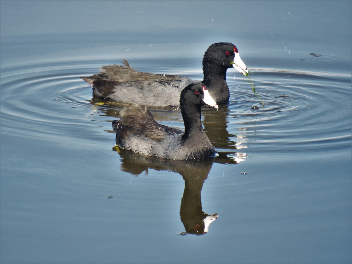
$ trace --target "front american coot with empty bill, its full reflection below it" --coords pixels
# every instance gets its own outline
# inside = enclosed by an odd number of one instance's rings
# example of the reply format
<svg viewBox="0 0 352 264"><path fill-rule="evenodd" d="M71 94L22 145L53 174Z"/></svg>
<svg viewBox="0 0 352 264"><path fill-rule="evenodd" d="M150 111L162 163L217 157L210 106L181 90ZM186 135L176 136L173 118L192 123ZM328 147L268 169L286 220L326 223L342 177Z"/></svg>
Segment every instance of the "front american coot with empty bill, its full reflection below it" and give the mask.
<svg viewBox="0 0 352 264"><path fill-rule="evenodd" d="M121 110L120 120L112 122L117 143L123 149L164 159L214 157L214 147L200 121L201 107L206 104L218 108L201 83L191 83L182 90L180 108L183 132L158 124L146 107L142 109L134 103Z"/></svg>

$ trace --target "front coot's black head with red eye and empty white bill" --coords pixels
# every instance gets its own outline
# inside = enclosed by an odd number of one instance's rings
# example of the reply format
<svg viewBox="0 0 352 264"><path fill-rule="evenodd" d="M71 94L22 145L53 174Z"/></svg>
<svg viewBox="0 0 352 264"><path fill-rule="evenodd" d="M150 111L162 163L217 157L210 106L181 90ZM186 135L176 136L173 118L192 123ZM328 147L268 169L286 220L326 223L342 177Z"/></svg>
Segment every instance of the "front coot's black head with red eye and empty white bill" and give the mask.
<svg viewBox="0 0 352 264"><path fill-rule="evenodd" d="M194 105L200 107L209 105L219 108L215 100L210 96L207 88L202 83L191 83L181 92L180 106L188 107Z"/></svg>

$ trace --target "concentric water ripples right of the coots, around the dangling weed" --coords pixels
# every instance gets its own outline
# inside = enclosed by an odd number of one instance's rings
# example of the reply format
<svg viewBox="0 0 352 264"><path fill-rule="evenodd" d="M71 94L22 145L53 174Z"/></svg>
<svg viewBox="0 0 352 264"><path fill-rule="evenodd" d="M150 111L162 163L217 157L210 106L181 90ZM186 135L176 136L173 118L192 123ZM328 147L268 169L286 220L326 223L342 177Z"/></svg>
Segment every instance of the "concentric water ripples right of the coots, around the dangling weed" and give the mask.
<svg viewBox="0 0 352 264"><path fill-rule="evenodd" d="M254 76L265 107L242 80L232 90L230 116L259 151L325 155L350 147L351 75L268 69Z"/></svg>

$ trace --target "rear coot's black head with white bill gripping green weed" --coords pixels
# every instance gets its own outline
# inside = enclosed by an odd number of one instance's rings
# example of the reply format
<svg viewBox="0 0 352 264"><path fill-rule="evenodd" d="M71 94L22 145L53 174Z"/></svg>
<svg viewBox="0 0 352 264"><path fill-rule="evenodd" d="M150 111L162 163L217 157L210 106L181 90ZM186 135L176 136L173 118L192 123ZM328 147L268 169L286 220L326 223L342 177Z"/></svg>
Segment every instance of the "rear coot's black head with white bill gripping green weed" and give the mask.
<svg viewBox="0 0 352 264"><path fill-rule="evenodd" d="M209 46L203 57L203 68L211 67L235 68L241 74L248 73L246 65L241 60L238 49L229 42L214 43Z"/></svg>

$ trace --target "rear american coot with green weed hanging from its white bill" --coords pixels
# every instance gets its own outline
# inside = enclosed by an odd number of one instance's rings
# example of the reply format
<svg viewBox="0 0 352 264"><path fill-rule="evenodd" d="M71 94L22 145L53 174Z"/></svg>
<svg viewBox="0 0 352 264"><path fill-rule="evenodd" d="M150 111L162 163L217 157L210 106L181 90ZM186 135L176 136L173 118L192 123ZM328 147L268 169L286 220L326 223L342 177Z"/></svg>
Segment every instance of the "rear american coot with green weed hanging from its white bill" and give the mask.
<svg viewBox="0 0 352 264"><path fill-rule="evenodd" d="M155 107L179 106L183 88L197 82L176 75L142 73L132 69L125 59L123 63L124 66L104 66L101 73L81 78L92 84L93 95L98 98ZM244 75L248 73L233 44L220 42L209 46L203 57L203 84L217 103L230 98L226 71L232 67Z"/></svg>

